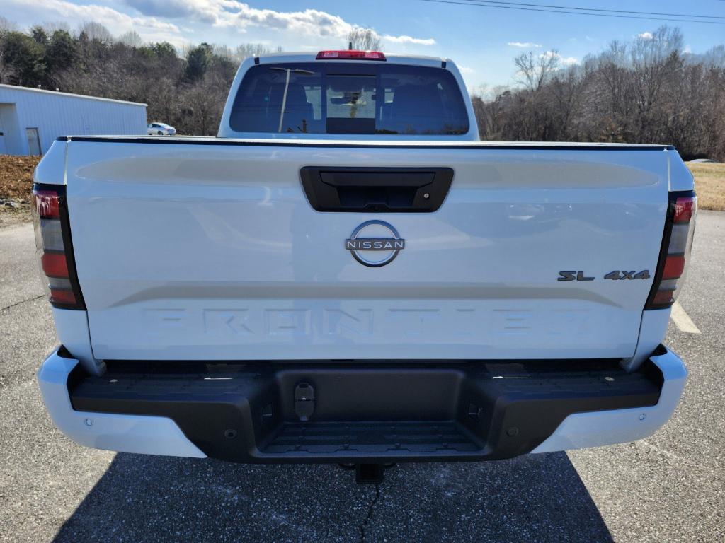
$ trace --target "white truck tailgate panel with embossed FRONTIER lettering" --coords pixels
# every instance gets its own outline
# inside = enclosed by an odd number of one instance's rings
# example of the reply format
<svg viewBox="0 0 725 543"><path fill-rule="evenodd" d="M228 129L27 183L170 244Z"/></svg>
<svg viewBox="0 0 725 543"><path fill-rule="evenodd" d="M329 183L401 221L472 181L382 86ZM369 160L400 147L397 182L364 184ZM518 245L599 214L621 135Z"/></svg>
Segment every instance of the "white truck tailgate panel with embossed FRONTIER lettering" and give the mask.
<svg viewBox="0 0 725 543"><path fill-rule="evenodd" d="M67 146L94 355L137 360L629 357L676 156L613 146ZM302 167L450 168L453 178L436 211L326 212L308 201ZM385 266L346 248L370 220L405 240ZM616 270L650 277L605 279ZM592 279L560 281L560 271Z"/></svg>

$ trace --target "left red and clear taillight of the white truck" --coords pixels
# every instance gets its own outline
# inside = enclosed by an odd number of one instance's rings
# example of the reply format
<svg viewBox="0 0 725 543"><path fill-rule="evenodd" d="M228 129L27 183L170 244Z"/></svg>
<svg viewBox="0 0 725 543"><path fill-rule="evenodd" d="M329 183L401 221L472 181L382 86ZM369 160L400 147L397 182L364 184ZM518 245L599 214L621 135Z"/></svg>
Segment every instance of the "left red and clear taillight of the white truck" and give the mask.
<svg viewBox="0 0 725 543"><path fill-rule="evenodd" d="M33 226L43 286L50 303L85 309L75 273L65 185L33 186Z"/></svg>

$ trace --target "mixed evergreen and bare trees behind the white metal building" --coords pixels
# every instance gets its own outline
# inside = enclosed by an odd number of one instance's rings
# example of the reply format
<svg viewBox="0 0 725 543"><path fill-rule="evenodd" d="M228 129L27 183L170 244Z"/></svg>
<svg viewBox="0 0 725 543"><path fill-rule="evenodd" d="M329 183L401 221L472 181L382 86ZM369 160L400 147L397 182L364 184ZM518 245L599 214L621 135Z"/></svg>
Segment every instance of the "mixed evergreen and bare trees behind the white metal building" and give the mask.
<svg viewBox="0 0 725 543"><path fill-rule="evenodd" d="M115 38L94 22L75 33L64 25L27 33L8 26L0 25L0 83L142 102L149 122L191 135L216 134L241 60L271 52L254 43L178 51L167 42L144 43L135 32Z"/></svg>

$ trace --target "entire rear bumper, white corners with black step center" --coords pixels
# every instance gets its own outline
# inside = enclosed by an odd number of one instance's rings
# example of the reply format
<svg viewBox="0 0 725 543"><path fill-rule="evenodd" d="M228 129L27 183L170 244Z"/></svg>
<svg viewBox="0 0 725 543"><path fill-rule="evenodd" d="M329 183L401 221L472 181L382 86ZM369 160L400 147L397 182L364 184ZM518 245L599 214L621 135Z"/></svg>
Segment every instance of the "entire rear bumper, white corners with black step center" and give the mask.
<svg viewBox="0 0 725 543"><path fill-rule="evenodd" d="M628 442L668 420L687 378L663 347L631 374L612 361L109 362L91 376L64 351L38 381L75 442L249 463L494 460Z"/></svg>

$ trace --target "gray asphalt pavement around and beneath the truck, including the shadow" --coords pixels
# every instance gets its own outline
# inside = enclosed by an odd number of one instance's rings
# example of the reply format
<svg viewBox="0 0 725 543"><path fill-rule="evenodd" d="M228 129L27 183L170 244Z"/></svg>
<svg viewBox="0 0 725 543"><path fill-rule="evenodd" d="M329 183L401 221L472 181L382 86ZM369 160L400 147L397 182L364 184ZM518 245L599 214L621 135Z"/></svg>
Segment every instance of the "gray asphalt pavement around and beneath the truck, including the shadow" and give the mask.
<svg viewBox="0 0 725 543"><path fill-rule="evenodd" d="M724 542L725 213L701 211L670 324L674 417L625 445L487 463L244 466L86 449L35 380L57 342L30 224L0 230L0 542Z"/></svg>

